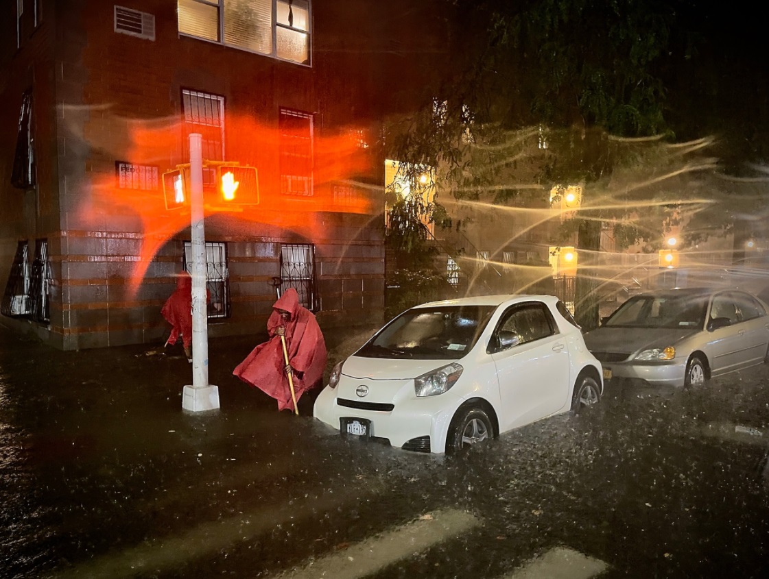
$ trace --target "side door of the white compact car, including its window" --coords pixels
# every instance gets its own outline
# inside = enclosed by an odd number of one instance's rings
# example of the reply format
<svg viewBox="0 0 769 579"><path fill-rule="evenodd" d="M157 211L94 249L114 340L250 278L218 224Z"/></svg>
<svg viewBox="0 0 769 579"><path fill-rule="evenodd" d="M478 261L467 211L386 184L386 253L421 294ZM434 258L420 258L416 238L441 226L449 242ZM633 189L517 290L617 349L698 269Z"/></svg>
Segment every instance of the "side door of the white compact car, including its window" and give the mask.
<svg viewBox="0 0 769 579"><path fill-rule="evenodd" d="M511 306L491 338L497 369L500 431L526 425L562 409L569 396L569 353L548 306Z"/></svg>

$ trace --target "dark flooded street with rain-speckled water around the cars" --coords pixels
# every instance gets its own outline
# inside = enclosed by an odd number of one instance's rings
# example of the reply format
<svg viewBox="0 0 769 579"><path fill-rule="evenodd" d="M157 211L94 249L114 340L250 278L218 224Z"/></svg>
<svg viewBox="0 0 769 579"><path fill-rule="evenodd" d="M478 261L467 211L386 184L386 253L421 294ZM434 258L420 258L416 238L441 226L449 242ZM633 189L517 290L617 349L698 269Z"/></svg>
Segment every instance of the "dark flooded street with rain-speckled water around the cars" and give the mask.
<svg viewBox="0 0 769 579"><path fill-rule="evenodd" d="M327 333L330 365L368 333ZM231 376L260 337L211 340L221 409L190 414L181 348L0 325L0 577L765 576L767 366L444 458L278 413Z"/></svg>

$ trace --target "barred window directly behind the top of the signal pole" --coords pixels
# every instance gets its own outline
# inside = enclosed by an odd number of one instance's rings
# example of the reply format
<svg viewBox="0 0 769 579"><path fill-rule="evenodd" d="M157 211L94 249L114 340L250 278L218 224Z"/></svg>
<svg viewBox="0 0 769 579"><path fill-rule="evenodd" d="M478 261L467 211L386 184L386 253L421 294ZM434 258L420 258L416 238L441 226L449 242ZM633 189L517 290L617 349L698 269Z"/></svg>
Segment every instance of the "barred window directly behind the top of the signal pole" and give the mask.
<svg viewBox="0 0 769 579"><path fill-rule="evenodd" d="M200 91L181 91L181 107L185 120L185 143L189 136L200 133L201 152L205 160L225 159L225 98ZM216 170L203 167L203 187L215 187Z"/></svg>

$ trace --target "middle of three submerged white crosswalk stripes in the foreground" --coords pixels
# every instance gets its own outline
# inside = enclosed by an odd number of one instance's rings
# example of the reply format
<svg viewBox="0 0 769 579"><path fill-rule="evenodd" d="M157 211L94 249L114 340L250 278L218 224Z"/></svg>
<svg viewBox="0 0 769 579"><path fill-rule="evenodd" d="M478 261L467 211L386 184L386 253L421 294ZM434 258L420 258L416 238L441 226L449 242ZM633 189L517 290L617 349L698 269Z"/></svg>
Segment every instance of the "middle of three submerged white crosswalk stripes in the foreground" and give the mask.
<svg viewBox="0 0 769 579"><path fill-rule="evenodd" d="M280 574L281 579L356 579L454 538L480 524L473 515L449 509L422 515L401 527L321 557L306 567Z"/></svg>

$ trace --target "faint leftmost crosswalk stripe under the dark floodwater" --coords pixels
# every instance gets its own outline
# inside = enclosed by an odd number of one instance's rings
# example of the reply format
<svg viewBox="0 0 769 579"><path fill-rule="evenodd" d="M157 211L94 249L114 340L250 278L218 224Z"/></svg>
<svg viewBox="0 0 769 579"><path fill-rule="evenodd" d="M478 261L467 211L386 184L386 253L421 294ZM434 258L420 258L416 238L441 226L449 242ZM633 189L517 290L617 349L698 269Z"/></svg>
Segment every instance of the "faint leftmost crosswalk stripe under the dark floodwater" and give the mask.
<svg viewBox="0 0 769 579"><path fill-rule="evenodd" d="M368 487L368 488L366 488ZM380 481L361 485L366 491L361 495L346 492L326 493L308 496L303 500L281 503L258 511L239 514L237 517L199 524L190 531L173 537L156 538L136 547L105 554L92 561L76 565L71 570L55 574L59 579L69 577L134 577L140 573L173 571L199 557L210 557L222 549L253 541L261 534L281 524L293 524L305 516L318 512L336 511L348 508L352 502L358 505L384 490ZM205 501L205 497L201 497Z"/></svg>

